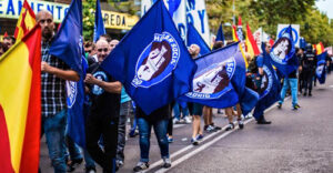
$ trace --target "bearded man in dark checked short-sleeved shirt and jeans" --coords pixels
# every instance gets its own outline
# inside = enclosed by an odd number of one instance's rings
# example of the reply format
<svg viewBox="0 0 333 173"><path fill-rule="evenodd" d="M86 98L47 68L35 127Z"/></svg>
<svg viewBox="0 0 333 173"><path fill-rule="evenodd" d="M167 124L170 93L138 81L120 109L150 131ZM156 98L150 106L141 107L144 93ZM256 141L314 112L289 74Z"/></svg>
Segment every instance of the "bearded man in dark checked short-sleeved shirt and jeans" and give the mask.
<svg viewBox="0 0 333 173"><path fill-rule="evenodd" d="M62 60L51 55L49 50L54 35L53 17L49 11L40 11L37 22L41 26L41 89L42 89L42 134L46 133L49 155L56 173L64 173L67 125L65 81L79 81L79 74Z"/></svg>

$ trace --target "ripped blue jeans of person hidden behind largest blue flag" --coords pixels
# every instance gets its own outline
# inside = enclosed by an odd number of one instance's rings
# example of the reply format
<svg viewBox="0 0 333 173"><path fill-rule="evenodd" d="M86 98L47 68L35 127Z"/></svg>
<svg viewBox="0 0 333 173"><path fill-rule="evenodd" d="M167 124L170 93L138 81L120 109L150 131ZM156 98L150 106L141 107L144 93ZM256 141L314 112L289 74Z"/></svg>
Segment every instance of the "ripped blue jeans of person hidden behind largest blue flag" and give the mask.
<svg viewBox="0 0 333 173"><path fill-rule="evenodd" d="M152 126L158 139L162 159L169 159L169 142L167 138L168 121L169 120L165 119L157 122L149 122L143 118L138 119L141 162L149 162L150 134Z"/></svg>

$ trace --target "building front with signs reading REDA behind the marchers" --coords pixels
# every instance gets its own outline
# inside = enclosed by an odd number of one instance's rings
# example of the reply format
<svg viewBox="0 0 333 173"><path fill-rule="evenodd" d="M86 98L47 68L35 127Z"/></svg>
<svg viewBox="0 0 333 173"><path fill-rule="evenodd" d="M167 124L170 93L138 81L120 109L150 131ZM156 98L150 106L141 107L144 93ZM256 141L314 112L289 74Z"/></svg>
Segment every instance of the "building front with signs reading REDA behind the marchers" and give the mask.
<svg viewBox="0 0 333 173"><path fill-rule="evenodd" d="M23 1L24 0L0 0L0 35L3 35L4 32L9 35L14 33ZM108 4L107 0L100 1L104 27L111 38L120 39L139 21L139 17L137 16L110 10L112 8ZM38 13L42 9L49 10L53 14L56 23L61 23L71 0L28 0L28 2L34 13Z"/></svg>

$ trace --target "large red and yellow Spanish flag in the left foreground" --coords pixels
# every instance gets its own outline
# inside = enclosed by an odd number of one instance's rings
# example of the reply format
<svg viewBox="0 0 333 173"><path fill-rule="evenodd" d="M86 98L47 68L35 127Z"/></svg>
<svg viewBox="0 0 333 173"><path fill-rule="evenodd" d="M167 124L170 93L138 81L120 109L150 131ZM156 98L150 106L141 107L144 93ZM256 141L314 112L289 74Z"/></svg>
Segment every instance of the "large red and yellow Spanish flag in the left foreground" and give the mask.
<svg viewBox="0 0 333 173"><path fill-rule="evenodd" d="M0 170L36 173L41 123L41 29L0 58Z"/></svg>

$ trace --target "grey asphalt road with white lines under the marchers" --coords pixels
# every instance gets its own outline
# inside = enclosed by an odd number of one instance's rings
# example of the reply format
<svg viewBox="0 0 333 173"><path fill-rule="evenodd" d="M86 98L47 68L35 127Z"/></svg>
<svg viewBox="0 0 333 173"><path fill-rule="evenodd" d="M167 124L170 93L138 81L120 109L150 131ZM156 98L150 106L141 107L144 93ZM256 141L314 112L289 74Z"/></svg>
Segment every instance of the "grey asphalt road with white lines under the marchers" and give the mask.
<svg viewBox="0 0 333 173"><path fill-rule="evenodd" d="M275 105L265 116L273 123L258 125L248 120L244 130L204 133L198 146L190 144L191 124L175 125L170 144L171 169L161 169L155 136L151 139L150 169L145 172L170 173L333 173L333 77L314 88L313 96L299 95L301 109L291 110L287 99L282 109ZM214 111L220 126L226 119ZM52 172L48 150L41 145L41 170ZM125 164L120 173L132 172L140 157L138 138L129 139ZM84 172L81 164L74 172ZM100 167L98 171L101 172Z"/></svg>

